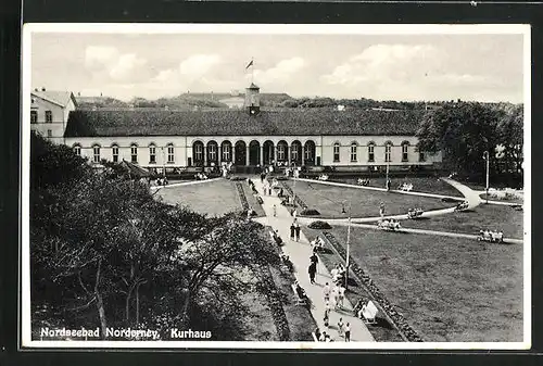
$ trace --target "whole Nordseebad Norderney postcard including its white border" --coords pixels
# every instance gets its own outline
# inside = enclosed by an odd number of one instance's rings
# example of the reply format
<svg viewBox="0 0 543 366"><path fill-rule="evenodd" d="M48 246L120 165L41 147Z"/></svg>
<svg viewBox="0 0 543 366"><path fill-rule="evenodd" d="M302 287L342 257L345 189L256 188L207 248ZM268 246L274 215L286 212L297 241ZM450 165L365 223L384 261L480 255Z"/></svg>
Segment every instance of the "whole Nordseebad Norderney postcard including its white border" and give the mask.
<svg viewBox="0 0 543 366"><path fill-rule="evenodd" d="M25 24L22 345L529 349L530 62L520 24Z"/></svg>

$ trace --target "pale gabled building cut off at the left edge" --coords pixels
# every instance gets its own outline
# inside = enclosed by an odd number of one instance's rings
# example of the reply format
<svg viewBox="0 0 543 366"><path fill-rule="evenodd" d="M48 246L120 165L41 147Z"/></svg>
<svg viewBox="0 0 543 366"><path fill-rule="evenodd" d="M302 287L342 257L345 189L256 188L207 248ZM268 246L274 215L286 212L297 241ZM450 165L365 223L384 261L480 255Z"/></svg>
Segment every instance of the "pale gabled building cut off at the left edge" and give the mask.
<svg viewBox="0 0 543 366"><path fill-rule="evenodd" d="M30 130L55 143L63 143L70 112L76 106L70 91L35 89L30 92Z"/></svg>

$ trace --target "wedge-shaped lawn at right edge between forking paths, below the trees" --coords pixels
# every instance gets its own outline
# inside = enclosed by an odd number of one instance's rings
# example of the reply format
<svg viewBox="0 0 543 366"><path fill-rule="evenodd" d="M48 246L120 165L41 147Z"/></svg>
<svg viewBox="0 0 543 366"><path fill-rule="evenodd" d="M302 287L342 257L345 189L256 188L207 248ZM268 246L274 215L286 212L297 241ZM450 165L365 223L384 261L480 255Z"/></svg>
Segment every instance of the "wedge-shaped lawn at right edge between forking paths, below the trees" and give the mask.
<svg viewBox="0 0 543 366"><path fill-rule="evenodd" d="M523 214L509 206L481 204L473 211L455 212L430 218L402 220L406 228L478 235L481 229L502 230L506 238L522 239Z"/></svg>

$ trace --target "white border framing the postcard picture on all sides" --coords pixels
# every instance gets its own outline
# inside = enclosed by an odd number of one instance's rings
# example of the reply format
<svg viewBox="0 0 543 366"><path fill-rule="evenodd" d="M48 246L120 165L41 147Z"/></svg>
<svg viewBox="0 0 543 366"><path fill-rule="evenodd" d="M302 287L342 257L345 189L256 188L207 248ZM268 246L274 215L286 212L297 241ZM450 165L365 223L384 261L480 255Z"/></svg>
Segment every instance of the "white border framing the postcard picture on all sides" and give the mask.
<svg viewBox="0 0 543 366"><path fill-rule="evenodd" d="M248 31L250 29L250 31ZM43 24L23 26L21 124L20 349L288 349L288 350L528 350L531 348L531 38L526 24ZM251 35L522 35L525 103L525 237L522 342L229 342L229 341L33 341L30 323L29 164L31 35L36 33L97 34L251 34ZM23 243L27 243L23 245Z"/></svg>

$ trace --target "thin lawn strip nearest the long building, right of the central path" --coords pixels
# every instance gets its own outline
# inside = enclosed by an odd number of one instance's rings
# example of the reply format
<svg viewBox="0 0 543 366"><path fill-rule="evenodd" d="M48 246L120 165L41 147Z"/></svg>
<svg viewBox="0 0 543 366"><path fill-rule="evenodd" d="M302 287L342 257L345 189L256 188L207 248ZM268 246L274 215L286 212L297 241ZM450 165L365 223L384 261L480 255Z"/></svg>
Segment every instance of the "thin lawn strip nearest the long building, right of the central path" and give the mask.
<svg viewBox="0 0 543 366"><path fill-rule="evenodd" d="M339 181L350 185L357 185L357 177L355 178L330 178L330 181ZM386 178L370 178L369 187L378 187L386 188ZM456 188L438 179L435 177L406 177L406 178L391 178L391 189L397 189L400 185L407 182L413 185L413 191L415 192L425 192L425 193L433 193L433 194L442 194L442 195L453 195L453 197L464 197L460 191Z"/></svg>

